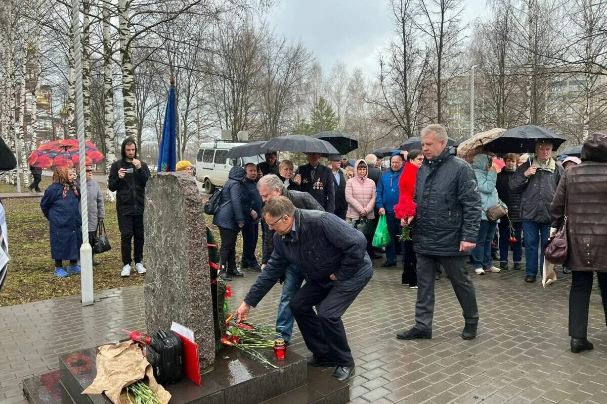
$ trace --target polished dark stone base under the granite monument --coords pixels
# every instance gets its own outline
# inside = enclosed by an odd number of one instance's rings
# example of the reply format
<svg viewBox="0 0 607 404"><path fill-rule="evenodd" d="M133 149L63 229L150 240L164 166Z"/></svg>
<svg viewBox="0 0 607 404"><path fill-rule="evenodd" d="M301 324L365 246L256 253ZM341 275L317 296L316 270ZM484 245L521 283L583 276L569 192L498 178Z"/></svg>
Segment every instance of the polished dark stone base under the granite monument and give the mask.
<svg viewBox="0 0 607 404"><path fill-rule="evenodd" d="M268 354L271 350L268 349ZM97 375L97 349L59 357L59 370L24 380L30 404L110 404L103 394L81 394ZM343 404L350 386L331 376L333 368L311 368L304 357L287 352L285 360L271 359L278 369L264 366L236 348L223 349L202 386L184 379L164 386L169 404Z"/></svg>

